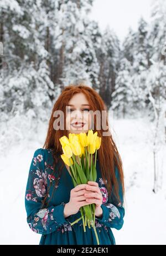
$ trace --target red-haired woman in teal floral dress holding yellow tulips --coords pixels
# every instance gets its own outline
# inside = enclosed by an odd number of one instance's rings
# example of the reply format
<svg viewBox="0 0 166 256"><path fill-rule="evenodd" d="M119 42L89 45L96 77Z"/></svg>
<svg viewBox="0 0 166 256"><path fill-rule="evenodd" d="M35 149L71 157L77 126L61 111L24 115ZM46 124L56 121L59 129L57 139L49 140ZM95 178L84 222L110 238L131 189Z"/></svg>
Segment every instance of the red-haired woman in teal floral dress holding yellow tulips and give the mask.
<svg viewBox="0 0 166 256"><path fill-rule="evenodd" d="M96 182L74 187L69 167L61 159L59 139L89 129L96 132L97 124L103 122L100 114L97 118L91 114L96 111L105 113L105 104L94 89L82 84L65 87L54 104L44 146L34 152L25 193L27 222L34 232L42 234L40 244L97 244L94 229L87 226L84 232L82 219L70 225L81 217L80 208L92 203L100 245L116 244L111 228L121 229L123 225L124 180L111 134L102 126L97 128L101 146L97 150ZM64 113L64 127L60 125L60 129L57 113ZM107 114L105 119L108 127Z"/></svg>

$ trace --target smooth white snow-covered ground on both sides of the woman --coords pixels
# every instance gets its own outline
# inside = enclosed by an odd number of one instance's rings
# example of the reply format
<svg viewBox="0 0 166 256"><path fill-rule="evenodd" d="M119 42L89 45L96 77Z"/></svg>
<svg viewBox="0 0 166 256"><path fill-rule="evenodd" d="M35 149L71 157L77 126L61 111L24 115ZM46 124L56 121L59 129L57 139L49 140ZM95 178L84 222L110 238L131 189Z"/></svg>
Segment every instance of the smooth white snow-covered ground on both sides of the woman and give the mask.
<svg viewBox="0 0 166 256"><path fill-rule="evenodd" d="M146 118L113 119L112 125L126 185L124 224L121 230L112 229L116 243L166 244L166 148L160 149L157 159L163 172L162 189L154 194L149 122ZM24 194L33 153L43 147L45 135L45 127L40 127L31 141L10 146L0 157L0 244L39 244L41 235L32 232L26 222Z"/></svg>

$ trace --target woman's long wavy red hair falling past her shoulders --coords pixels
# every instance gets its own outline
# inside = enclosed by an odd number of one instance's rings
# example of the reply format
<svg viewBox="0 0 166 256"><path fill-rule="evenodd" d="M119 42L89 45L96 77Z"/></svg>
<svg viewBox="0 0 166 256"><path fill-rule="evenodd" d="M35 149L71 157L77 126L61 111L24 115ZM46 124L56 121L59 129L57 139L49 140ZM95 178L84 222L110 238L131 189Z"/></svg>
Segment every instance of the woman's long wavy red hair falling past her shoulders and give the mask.
<svg viewBox="0 0 166 256"><path fill-rule="evenodd" d="M61 170L64 168L64 163L61 160L60 155L63 154L63 150L60 144L59 139L66 135L68 136L68 131L66 129L54 129L54 121L58 117L54 117L55 111L63 111L64 118L66 119L66 106L68 106L68 103L72 96L76 93L84 93L85 97L87 98L87 101L90 105L90 110L92 111L99 111L100 113L107 113L107 108L105 103L103 102L100 95L91 87L86 86L85 84L70 84L69 86L65 87L63 91L61 92L59 98L56 100L53 111L51 113L50 121L49 121L49 127L48 132L46 135L45 143L43 145L44 149L51 149L51 152L53 154L54 158L54 164L53 164L53 172L51 175L55 174L55 165L57 163L61 163L60 168L57 170L58 174L61 174ZM107 131L110 131L110 128L108 126L108 117L107 114L105 116L106 118L106 126L108 127ZM64 119L64 120L65 120ZM101 115L102 119L102 115ZM101 120L102 122L102 120ZM65 122L64 122L65 127ZM97 158L98 162L100 164L100 170L102 179L106 184L108 196L111 196L112 187L115 188L115 198L117 199L117 202L121 202L120 196L119 196L119 184L115 175L115 167L118 169L118 175L120 177L121 186L122 186L122 193L125 193L125 185L124 185L124 177L123 177L123 167L122 167L122 160L120 157L120 154L118 153L117 147L115 142L113 141L111 132L110 135L103 136L103 132L106 132L106 130L102 129L102 126L99 130L96 130L96 116L94 116L94 130L93 132L97 131L97 135L101 137L101 146L100 149L97 150ZM58 176L59 177L59 176ZM58 178L56 179L54 189L57 187ZM50 189L51 182L49 184L49 188L47 190L47 194L43 200L42 207L45 207L46 205L46 199L48 198L49 189ZM53 197L53 193L51 197L48 200L48 203L50 199ZM47 203L47 205L48 205Z"/></svg>

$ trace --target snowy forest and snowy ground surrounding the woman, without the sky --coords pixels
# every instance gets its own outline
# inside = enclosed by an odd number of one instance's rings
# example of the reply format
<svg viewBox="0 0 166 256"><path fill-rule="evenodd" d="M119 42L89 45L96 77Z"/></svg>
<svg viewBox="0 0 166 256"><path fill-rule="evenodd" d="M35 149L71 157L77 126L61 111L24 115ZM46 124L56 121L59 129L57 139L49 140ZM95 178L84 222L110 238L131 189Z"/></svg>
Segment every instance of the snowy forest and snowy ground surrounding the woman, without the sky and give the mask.
<svg viewBox="0 0 166 256"><path fill-rule="evenodd" d="M166 1L153 1L151 22L140 17L123 42L91 19L93 2L0 1L1 244L38 244L24 209L30 160L54 102L77 83L113 111L127 202L117 244L166 244Z"/></svg>

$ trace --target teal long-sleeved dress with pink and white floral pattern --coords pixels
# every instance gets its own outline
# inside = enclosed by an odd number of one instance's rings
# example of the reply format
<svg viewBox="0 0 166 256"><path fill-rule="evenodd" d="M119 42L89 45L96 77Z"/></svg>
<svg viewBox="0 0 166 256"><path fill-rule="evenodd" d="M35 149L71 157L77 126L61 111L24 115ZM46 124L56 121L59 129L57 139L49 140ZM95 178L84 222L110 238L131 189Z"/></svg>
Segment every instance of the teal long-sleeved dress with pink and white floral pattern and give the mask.
<svg viewBox="0 0 166 256"><path fill-rule="evenodd" d="M101 205L102 217L95 218L98 239L100 245L116 244L111 228L121 229L123 225L125 209L122 206L122 187L119 183L120 203L116 204L113 197L109 197L110 199L108 200L108 193L106 185L101 178L98 159L96 169L96 182L103 196ZM117 168L115 168L115 172L118 178ZM53 190L54 185L55 188ZM42 200L48 188L48 207L42 208ZM53 150L42 148L35 150L28 174L25 209L30 229L35 233L42 234L39 244L97 245L94 229L92 227L89 228L87 225L86 232L84 232L82 219L74 225L70 225L70 223L81 217L80 210L78 213L64 218L64 207L70 200L70 190L72 188L74 188L74 184L65 165L60 177L56 175L56 172L53 175Z"/></svg>

